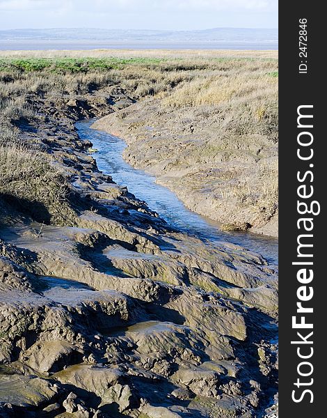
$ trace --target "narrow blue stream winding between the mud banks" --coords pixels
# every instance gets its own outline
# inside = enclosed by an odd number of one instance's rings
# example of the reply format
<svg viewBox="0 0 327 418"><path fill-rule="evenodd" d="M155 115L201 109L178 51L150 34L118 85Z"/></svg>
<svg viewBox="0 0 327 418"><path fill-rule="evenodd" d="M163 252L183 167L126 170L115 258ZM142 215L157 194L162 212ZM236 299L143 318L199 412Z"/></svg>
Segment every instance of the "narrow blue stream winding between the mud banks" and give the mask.
<svg viewBox="0 0 327 418"><path fill-rule="evenodd" d="M129 192L147 203L147 206L158 212L168 224L177 227L202 240L209 242L231 242L262 254L271 264L278 263L278 240L253 233L226 233L218 224L187 209L177 196L164 186L158 185L155 177L143 170L134 169L122 159L126 148L125 141L106 132L90 128L94 121L81 121L76 124L81 139L93 143L97 153L97 167L109 174L118 185L127 186Z"/></svg>

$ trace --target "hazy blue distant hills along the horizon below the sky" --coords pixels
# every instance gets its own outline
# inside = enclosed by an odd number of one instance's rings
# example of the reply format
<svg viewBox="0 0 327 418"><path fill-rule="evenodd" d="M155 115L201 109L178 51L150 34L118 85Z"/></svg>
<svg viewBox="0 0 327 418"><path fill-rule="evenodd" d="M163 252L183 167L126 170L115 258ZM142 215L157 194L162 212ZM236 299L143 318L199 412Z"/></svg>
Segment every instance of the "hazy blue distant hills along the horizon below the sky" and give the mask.
<svg viewBox="0 0 327 418"><path fill-rule="evenodd" d="M160 42L277 42L278 29L214 28L200 31L139 29L10 29L1 41L160 41Z"/></svg>

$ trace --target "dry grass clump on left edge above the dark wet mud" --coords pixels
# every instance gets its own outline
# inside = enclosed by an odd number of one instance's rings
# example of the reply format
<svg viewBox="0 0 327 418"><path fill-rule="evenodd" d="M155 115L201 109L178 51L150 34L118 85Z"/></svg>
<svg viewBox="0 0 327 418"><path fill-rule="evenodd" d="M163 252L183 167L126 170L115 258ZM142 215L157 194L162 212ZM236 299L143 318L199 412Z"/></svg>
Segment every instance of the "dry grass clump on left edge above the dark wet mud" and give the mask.
<svg viewBox="0 0 327 418"><path fill-rule="evenodd" d="M0 197L42 222L73 218L69 186L48 155L22 144L0 146Z"/></svg>

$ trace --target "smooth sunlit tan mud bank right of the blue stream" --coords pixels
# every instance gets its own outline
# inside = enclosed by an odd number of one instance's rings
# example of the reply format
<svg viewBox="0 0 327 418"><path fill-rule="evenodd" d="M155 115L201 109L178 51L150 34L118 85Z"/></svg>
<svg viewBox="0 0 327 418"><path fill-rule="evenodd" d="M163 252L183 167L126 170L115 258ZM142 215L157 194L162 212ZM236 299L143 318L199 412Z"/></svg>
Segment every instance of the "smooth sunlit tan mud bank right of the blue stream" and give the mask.
<svg viewBox="0 0 327 418"><path fill-rule="evenodd" d="M125 160L156 176L190 210L221 223L226 231L277 237L278 124L273 111L269 114L269 106L276 106L273 98L266 110L258 107L252 113L247 100L253 98L181 108L165 100L169 96L146 98L93 126L124 139ZM257 116L260 111L266 114Z"/></svg>

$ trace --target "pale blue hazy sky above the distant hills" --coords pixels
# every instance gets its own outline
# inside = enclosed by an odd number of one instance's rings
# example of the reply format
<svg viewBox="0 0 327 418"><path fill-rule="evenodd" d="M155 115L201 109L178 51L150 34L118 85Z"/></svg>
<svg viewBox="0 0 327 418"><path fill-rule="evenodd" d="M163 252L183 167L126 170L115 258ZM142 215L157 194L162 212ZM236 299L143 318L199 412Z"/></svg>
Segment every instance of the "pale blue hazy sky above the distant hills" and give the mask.
<svg viewBox="0 0 327 418"><path fill-rule="evenodd" d="M277 28L278 0L0 0L1 29Z"/></svg>

